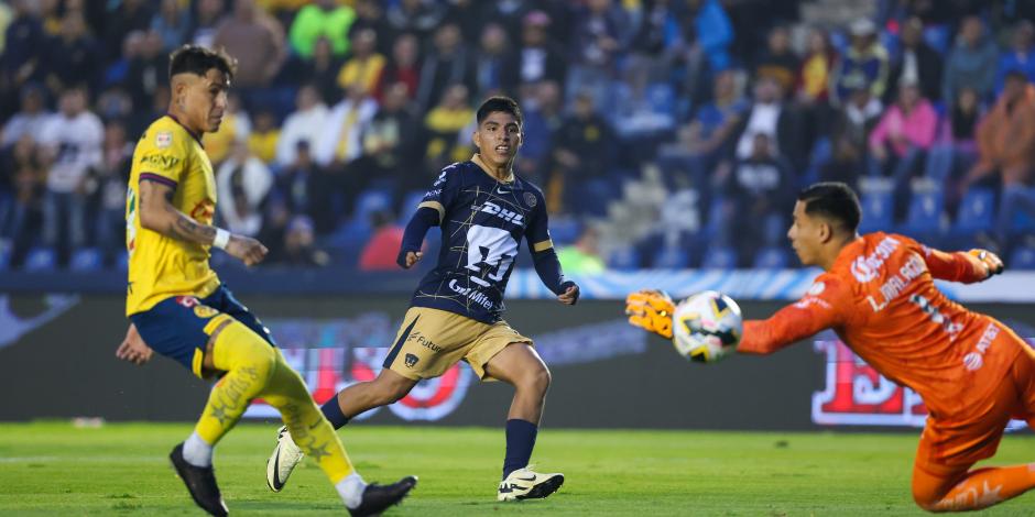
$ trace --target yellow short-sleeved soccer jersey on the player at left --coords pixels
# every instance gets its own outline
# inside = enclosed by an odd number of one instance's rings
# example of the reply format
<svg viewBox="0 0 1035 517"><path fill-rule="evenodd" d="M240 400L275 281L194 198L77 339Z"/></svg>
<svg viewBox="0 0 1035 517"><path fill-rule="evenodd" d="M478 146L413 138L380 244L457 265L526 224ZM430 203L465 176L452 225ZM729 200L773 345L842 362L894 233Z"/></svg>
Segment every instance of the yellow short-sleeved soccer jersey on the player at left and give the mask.
<svg viewBox="0 0 1035 517"><path fill-rule="evenodd" d="M127 316L170 296L203 298L219 286L216 272L208 266L209 246L140 226L141 179L173 187L173 206L199 223L211 224L216 210L216 179L201 143L171 116L154 121L137 142L126 193Z"/></svg>

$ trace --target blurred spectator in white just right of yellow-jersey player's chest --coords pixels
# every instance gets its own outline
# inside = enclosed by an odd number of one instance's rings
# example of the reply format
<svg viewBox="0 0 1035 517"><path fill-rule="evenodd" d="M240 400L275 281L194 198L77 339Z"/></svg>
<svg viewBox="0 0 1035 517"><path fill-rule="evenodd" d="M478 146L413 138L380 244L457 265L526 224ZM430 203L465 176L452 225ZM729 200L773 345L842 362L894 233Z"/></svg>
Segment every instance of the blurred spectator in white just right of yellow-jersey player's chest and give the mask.
<svg viewBox="0 0 1035 517"><path fill-rule="evenodd" d="M216 174L216 189L220 199L219 215L233 233L255 237L262 230L262 204L265 201L273 174L261 160L253 156L248 145L238 142L233 153Z"/></svg>

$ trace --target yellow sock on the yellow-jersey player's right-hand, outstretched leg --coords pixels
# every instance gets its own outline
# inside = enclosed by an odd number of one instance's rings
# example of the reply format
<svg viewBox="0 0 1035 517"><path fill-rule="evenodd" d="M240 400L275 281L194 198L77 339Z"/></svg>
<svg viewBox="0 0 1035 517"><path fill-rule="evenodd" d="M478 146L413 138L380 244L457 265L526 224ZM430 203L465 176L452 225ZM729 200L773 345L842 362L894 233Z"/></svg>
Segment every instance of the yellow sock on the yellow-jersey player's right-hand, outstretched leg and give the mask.
<svg viewBox="0 0 1035 517"><path fill-rule="evenodd" d="M352 462L334 427L306 389L305 382L287 364L280 350L272 350L276 355L276 364L260 396L281 411L291 438L309 458L316 460L330 483L337 485L355 472Z"/></svg>

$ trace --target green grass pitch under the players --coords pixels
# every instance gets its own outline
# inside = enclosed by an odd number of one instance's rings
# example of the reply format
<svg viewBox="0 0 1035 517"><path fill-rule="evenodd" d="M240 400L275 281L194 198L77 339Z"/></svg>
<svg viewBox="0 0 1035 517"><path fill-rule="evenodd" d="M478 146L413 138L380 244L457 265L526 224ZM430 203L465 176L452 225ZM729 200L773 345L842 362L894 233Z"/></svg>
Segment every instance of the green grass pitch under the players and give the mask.
<svg viewBox="0 0 1035 517"><path fill-rule="evenodd" d="M242 424L220 443L216 473L239 515L344 515L312 462L280 494L265 486L273 425ZM182 424L0 425L0 515L203 515L168 466ZM916 436L544 429L533 459L560 471L544 501L495 502L499 429L374 427L340 431L368 481L417 474L386 515L924 515L909 497ZM990 464L1035 460L1031 435L1007 436ZM1035 493L988 515L1035 515Z"/></svg>

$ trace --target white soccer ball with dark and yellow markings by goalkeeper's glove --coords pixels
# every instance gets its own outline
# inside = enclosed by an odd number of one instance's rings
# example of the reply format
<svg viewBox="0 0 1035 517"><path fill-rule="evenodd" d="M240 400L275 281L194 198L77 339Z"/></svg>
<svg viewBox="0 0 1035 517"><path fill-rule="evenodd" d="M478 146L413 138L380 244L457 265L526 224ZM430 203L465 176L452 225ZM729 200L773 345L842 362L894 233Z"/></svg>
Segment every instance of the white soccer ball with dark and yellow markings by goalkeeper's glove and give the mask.
<svg viewBox="0 0 1035 517"><path fill-rule="evenodd" d="M718 361L737 350L744 330L737 302L713 290L680 301L672 324L672 344L679 355L701 363Z"/></svg>

